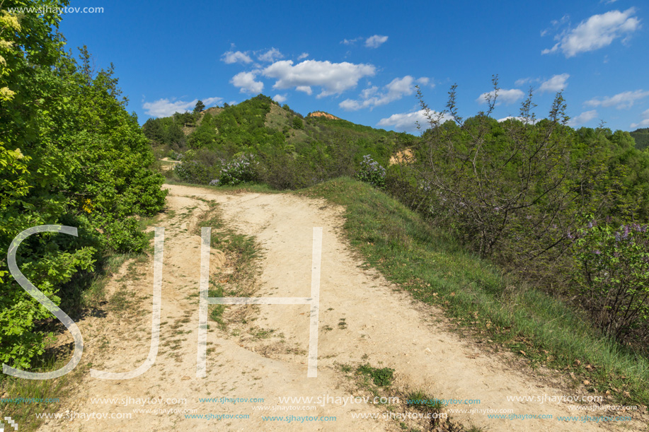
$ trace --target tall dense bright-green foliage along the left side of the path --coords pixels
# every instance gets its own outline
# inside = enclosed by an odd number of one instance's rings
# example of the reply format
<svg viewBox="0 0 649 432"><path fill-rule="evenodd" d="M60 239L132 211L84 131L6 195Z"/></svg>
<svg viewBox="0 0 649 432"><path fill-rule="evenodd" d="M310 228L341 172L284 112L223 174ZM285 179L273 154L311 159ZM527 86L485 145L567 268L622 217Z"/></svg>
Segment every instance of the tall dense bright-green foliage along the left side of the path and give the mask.
<svg viewBox="0 0 649 432"><path fill-rule="evenodd" d="M147 242L134 217L155 214L166 197L163 177L148 168L149 139L125 109L112 67L94 71L85 47L79 61L64 52L55 31L55 9L64 4L0 13L0 362L23 369L44 352L51 327L42 324L52 315L8 276L13 238L45 224L79 228L78 237L32 235L16 253L23 275L60 305L66 284L101 257L142 250Z"/></svg>

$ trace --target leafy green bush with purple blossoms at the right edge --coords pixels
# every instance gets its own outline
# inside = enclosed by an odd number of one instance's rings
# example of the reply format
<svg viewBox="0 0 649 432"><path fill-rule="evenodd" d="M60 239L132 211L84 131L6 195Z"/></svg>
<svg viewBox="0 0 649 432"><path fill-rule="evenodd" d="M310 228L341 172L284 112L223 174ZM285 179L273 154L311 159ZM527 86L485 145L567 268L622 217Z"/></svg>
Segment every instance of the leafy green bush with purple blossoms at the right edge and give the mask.
<svg viewBox="0 0 649 432"><path fill-rule="evenodd" d="M649 336L649 229L637 223L615 228L591 221L575 234L582 305L616 339Z"/></svg>

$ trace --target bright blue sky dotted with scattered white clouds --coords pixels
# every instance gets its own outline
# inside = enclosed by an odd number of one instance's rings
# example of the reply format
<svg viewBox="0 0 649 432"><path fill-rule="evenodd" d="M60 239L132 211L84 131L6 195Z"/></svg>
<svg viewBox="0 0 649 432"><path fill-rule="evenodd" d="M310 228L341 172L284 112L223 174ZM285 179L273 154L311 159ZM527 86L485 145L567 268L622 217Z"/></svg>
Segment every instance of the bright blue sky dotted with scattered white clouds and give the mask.
<svg viewBox="0 0 649 432"><path fill-rule="evenodd" d="M459 112L519 114L529 87L537 117L564 89L571 125L649 127L648 11L638 0L71 1L103 13L64 13L69 47L113 62L140 122L258 93L306 115L414 132L422 89L443 110L456 83Z"/></svg>

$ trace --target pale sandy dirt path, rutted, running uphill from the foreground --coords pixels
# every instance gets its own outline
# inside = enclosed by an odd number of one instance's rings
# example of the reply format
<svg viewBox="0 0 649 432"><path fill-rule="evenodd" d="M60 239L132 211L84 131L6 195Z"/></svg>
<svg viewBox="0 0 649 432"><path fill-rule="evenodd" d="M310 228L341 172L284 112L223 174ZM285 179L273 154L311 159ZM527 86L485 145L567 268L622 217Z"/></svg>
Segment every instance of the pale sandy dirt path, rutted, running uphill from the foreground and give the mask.
<svg viewBox="0 0 649 432"><path fill-rule="evenodd" d="M601 424L560 422L558 416L585 415L567 404L513 402L507 396L558 397L565 392L508 366L507 355L490 354L460 339L440 322L442 313L415 303L372 269L362 269L342 235L342 209L324 200L291 194L226 194L214 189L166 185L169 218L163 259L161 349L156 363L130 380L99 380L85 374L64 398L62 414L103 413L108 419L49 420L40 431L398 431L398 421L357 419L381 414L386 407L365 403L280 403L280 397L350 397L364 395L340 365L394 368L394 388L423 390L440 399L479 399L479 404L452 409L512 410L518 416L552 419L490 419L486 414L452 413L464 426L487 431L595 431ZM196 221L217 202L224 221L254 235L262 248L259 297L308 297L311 290L313 228L323 228L318 377L306 377L309 346L308 305L258 305L253 319L232 322L227 329L211 325L208 332L207 377L196 378L197 293L200 279L200 236ZM142 299L138 314L112 313L79 322L86 348L83 364L123 372L137 368L149 352L152 257L135 274L127 264L108 285L109 292L128 289ZM210 273L228 263L212 248ZM236 315L236 308L229 312ZM249 307L248 307L249 308ZM227 316L227 315L226 315ZM341 325L341 322L343 325ZM262 336L260 336L262 335ZM270 335L270 336L269 336ZM366 392L367 393L367 392ZM569 394L570 395L570 394ZM263 402L200 402L200 398L257 398ZM93 401L93 398L115 399ZM135 399L131 401L129 398ZM141 399L137 401L137 399ZM147 401L149 398L149 402ZM161 398L162 403L151 400ZM169 400L167 400L169 399ZM174 399L186 399L178 403ZM160 400L160 399L157 399ZM66 402L67 401L67 402ZM331 401L331 399L330 399ZM321 406L324 405L324 406ZM259 411L265 406L275 411ZM313 406L313 410L297 407ZM293 407L293 410L289 407ZM147 409L149 412L135 412ZM159 411L154 412L155 409ZM193 414L245 416L246 419L188 419ZM130 419L110 416L131 414ZM590 415L597 415L589 413ZM264 421L262 416L335 416L335 421ZM621 424L622 422L619 422ZM626 430L640 430L624 422ZM605 427L613 428L612 423ZM638 429L636 429L638 427Z"/></svg>

